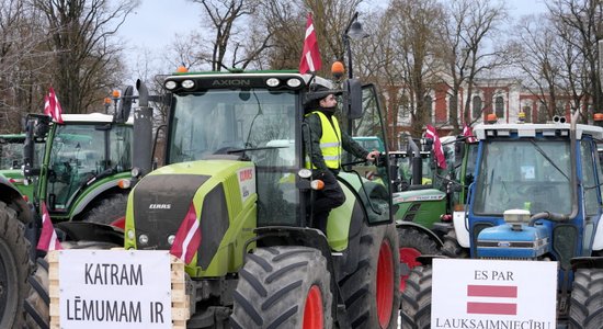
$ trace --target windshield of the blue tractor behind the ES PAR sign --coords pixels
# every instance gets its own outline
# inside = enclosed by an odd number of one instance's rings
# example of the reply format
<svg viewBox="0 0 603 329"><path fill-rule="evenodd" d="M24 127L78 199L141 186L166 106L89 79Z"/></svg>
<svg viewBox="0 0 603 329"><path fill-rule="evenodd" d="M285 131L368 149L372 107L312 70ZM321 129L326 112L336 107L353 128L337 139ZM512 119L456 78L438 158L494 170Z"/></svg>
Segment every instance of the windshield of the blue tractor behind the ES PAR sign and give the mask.
<svg viewBox="0 0 603 329"><path fill-rule="evenodd" d="M474 213L571 212L569 140L522 138L483 143Z"/></svg>

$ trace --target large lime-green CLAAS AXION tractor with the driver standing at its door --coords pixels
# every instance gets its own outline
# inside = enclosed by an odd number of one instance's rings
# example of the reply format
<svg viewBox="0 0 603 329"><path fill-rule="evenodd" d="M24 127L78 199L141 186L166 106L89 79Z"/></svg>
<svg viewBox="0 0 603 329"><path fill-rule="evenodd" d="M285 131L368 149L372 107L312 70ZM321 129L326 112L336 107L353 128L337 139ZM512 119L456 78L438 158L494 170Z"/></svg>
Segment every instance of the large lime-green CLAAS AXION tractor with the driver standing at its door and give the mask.
<svg viewBox="0 0 603 329"><path fill-rule="evenodd" d="M190 209L201 245L186 263L187 328L397 328L398 238L387 159L374 180L343 163L346 202L326 235L304 168L304 99L330 81L295 71L177 73L166 166L128 197L126 249L170 249ZM342 129L383 132L373 86L342 83ZM354 121L363 117L362 121ZM385 140L385 139L383 139ZM312 188L314 186L314 188Z"/></svg>

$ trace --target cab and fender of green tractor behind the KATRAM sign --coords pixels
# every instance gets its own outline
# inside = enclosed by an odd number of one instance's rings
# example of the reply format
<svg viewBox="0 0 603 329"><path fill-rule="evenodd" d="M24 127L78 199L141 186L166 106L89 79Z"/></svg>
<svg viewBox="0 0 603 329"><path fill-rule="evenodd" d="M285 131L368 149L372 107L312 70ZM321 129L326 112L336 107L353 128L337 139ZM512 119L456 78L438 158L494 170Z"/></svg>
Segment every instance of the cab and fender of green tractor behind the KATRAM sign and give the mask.
<svg viewBox="0 0 603 329"><path fill-rule="evenodd" d="M34 156L34 173L26 179L36 205L45 202L53 219L71 220L105 195L127 192L120 182L130 178L134 134L132 120L115 123L112 115L65 114L62 120L31 116L46 131L27 133L30 139L45 148L39 161Z"/></svg>

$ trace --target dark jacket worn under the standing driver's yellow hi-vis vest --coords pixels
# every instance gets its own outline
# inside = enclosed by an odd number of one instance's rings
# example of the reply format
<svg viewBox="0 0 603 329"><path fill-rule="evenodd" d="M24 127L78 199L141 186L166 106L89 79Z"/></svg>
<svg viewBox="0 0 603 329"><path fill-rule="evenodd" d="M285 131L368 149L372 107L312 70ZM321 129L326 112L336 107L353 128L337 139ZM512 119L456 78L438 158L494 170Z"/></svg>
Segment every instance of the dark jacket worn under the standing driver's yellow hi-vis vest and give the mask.
<svg viewBox="0 0 603 329"><path fill-rule="evenodd" d="M337 117L332 117L332 114L329 113L328 111L321 111L321 112L328 118L337 120ZM320 122L320 117L318 116L318 114L309 114L304 118L304 121L308 124L309 134L310 134L310 138L308 138L308 136L306 136L307 129L304 129L304 145L306 147L306 154L309 154L309 150L311 149L310 158L314 166L316 166L316 168L319 171L326 171L328 170L328 168L327 168L327 164L325 163L325 159L322 158L322 152L320 151L320 137L322 136L322 124ZM311 148L310 148L310 141L311 141ZM349 151L350 154L361 159L366 159L366 156L368 156L368 151L365 150L354 139L352 139L352 137L345 134L343 129L341 131L341 147L344 150Z"/></svg>

